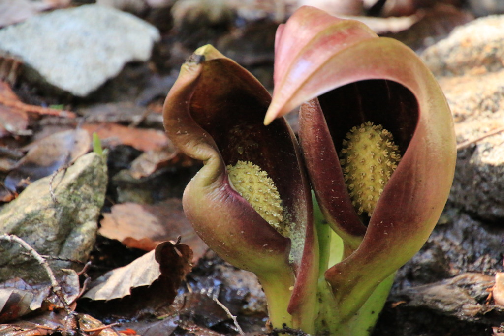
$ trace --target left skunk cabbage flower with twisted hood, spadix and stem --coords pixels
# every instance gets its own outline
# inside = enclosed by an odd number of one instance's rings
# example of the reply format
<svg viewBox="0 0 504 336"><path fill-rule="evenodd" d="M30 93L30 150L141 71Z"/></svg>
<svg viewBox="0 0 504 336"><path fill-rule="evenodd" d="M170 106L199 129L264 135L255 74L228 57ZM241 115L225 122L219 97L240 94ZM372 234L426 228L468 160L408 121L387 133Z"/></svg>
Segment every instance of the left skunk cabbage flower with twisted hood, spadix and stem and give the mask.
<svg viewBox="0 0 504 336"><path fill-rule="evenodd" d="M207 45L182 65L164 126L183 153L204 163L183 194L195 231L258 276L274 326L312 331L319 249L310 188L287 122L263 124L270 101L250 73Z"/></svg>

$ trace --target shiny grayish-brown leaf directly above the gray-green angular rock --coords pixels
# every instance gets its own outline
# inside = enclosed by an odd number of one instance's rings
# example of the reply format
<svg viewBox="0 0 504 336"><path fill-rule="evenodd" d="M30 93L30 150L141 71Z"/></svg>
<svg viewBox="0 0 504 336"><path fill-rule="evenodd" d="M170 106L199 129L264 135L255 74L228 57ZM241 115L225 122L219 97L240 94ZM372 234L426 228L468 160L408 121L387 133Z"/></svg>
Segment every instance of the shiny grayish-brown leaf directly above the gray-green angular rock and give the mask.
<svg viewBox="0 0 504 336"><path fill-rule="evenodd" d="M43 138L30 147L5 179L4 184L11 191L25 187L28 180L49 176L60 167L73 163L89 151L91 138L85 130L72 129Z"/></svg>

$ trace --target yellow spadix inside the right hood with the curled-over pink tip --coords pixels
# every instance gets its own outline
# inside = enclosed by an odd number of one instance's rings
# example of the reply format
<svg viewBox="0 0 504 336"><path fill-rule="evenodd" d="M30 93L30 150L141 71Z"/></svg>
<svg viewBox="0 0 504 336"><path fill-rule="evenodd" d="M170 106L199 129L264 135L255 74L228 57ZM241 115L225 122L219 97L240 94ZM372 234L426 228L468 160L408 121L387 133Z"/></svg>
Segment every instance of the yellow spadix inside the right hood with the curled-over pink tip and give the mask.
<svg viewBox="0 0 504 336"><path fill-rule="evenodd" d="M401 155L392 133L367 121L354 126L343 140L340 163L357 214L374 211Z"/></svg>

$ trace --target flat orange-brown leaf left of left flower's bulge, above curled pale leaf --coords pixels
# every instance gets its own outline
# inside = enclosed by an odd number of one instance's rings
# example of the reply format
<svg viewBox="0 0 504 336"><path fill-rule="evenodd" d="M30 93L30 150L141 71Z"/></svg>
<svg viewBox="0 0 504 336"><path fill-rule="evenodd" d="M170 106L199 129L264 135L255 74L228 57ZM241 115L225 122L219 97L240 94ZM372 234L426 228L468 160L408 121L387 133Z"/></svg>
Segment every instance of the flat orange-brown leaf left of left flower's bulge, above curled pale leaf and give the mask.
<svg viewBox="0 0 504 336"><path fill-rule="evenodd" d="M179 198L170 198L153 206L118 204L112 207L111 213L103 214L100 224L98 232L101 235L117 239L129 247L147 250L160 241L175 240L180 235L181 242L193 249L194 261L208 249L185 218Z"/></svg>

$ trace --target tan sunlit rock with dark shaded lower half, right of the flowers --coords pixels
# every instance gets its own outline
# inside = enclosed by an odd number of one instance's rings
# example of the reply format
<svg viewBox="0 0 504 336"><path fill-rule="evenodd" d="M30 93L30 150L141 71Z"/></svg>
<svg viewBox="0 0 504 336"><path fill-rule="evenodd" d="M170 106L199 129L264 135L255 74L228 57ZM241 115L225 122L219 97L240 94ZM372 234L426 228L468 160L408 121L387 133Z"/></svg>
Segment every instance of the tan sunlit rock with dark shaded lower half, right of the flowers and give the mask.
<svg viewBox="0 0 504 336"><path fill-rule="evenodd" d="M504 71L442 78L455 120L457 153L450 200L485 221L504 218Z"/></svg>

